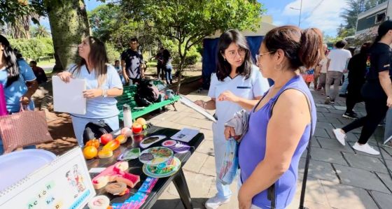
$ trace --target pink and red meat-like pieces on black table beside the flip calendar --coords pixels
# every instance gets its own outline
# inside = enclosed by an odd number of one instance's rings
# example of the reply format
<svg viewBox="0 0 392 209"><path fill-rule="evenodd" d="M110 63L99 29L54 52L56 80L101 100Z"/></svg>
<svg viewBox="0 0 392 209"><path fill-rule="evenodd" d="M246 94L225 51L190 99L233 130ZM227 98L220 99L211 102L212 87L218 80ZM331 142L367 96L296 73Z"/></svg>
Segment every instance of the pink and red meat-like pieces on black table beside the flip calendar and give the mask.
<svg viewBox="0 0 392 209"><path fill-rule="evenodd" d="M113 166L109 166L92 179L94 189L101 189L113 181L124 182L128 187L133 188L140 181L140 176L125 172L127 169L128 162L126 161L120 161Z"/></svg>

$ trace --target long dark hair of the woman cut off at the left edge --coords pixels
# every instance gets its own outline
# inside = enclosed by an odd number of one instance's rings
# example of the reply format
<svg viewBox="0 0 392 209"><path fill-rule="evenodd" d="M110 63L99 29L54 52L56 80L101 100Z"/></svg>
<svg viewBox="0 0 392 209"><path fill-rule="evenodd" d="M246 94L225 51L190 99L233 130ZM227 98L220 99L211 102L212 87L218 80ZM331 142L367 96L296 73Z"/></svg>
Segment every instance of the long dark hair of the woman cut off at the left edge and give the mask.
<svg viewBox="0 0 392 209"><path fill-rule="evenodd" d="M8 74L7 83L5 87L9 87L13 82L19 79L19 66L13 48L6 37L0 35L0 43L3 45L3 57L6 59L6 71ZM1 57L0 57L1 59Z"/></svg>

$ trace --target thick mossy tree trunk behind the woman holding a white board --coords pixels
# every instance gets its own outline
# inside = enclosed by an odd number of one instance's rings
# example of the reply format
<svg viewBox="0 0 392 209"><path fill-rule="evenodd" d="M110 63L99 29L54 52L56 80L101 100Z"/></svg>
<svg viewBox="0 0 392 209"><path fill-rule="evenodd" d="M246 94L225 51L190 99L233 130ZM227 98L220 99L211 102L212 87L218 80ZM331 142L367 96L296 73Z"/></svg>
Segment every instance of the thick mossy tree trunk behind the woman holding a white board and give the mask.
<svg viewBox="0 0 392 209"><path fill-rule="evenodd" d="M90 35L84 0L45 0L56 64L53 72L75 63L78 44Z"/></svg>

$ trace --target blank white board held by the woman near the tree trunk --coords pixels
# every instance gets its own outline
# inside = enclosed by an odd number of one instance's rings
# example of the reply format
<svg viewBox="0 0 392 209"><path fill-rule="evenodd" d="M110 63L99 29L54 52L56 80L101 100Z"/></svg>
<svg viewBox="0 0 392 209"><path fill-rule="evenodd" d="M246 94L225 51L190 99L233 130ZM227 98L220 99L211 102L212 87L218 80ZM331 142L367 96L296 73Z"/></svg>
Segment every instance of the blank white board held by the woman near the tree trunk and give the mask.
<svg viewBox="0 0 392 209"><path fill-rule="evenodd" d="M57 75L52 76L53 106L56 112L85 115L86 99L83 91L86 89L84 79L70 79L66 83Z"/></svg>

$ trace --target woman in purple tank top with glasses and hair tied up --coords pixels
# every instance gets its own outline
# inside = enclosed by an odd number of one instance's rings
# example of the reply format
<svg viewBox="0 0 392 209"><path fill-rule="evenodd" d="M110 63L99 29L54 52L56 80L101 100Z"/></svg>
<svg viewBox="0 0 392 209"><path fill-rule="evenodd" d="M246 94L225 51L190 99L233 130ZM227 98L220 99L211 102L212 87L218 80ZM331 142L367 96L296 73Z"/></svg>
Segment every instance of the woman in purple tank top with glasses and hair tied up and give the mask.
<svg viewBox="0 0 392 209"><path fill-rule="evenodd" d="M256 60L274 85L253 107L248 132L239 144L239 208L270 208L267 191L272 185L276 208L286 208L292 201L298 163L313 134L311 121L313 126L316 122L314 101L299 67L316 66L322 50L318 29L283 26L266 34ZM234 129L226 128L225 136L235 136Z"/></svg>

